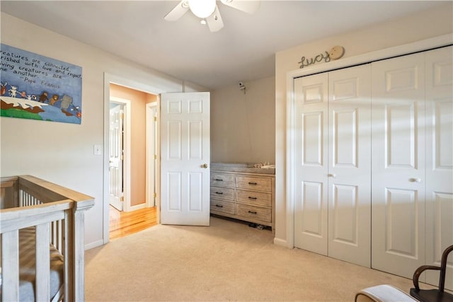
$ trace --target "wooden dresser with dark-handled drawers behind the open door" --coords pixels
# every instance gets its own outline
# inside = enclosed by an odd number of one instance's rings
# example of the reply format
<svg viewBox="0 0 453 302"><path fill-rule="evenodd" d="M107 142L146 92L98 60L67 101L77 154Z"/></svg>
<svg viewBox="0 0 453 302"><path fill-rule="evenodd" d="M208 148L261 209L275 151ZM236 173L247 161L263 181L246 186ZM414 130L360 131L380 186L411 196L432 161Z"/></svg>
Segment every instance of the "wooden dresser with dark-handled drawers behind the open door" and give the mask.
<svg viewBox="0 0 453 302"><path fill-rule="evenodd" d="M211 163L211 213L275 231L275 169Z"/></svg>

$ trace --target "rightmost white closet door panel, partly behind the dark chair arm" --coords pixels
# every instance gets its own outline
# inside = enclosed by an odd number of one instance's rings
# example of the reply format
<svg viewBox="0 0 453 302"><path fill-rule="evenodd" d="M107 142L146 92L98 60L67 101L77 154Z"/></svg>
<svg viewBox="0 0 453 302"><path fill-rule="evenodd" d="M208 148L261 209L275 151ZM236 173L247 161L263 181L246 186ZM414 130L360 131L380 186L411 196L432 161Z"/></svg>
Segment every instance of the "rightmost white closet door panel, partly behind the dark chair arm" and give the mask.
<svg viewBox="0 0 453 302"><path fill-rule="evenodd" d="M453 47L426 53L426 264L453 245ZM445 287L453 290L453 255ZM426 281L439 283L439 272Z"/></svg>

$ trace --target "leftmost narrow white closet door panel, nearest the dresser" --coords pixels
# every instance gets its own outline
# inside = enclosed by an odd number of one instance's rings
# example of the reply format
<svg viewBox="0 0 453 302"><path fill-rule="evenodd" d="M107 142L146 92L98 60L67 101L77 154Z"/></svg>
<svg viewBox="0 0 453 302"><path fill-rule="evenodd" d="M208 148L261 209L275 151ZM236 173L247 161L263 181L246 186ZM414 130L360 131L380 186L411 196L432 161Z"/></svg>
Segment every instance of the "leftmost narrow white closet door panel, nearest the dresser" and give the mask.
<svg viewBox="0 0 453 302"><path fill-rule="evenodd" d="M327 255L328 75L294 79L294 246Z"/></svg>

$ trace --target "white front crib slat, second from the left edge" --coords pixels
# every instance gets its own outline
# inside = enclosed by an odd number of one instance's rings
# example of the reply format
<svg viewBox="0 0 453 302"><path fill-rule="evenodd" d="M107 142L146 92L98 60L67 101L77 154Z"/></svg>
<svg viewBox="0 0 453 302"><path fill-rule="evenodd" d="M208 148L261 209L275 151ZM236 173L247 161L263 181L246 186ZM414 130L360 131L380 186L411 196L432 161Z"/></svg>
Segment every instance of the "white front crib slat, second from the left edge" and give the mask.
<svg viewBox="0 0 453 302"><path fill-rule="evenodd" d="M36 301L50 301L50 223L36 226Z"/></svg>

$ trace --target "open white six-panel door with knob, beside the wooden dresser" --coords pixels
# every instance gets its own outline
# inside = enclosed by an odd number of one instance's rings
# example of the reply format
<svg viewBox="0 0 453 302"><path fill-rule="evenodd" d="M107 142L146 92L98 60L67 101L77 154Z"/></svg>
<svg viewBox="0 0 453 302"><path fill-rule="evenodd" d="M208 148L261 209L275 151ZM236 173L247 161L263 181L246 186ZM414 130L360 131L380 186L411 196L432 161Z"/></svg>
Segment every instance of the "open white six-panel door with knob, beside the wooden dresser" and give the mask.
<svg viewBox="0 0 453 302"><path fill-rule="evenodd" d="M161 95L161 223L210 225L210 93Z"/></svg>

